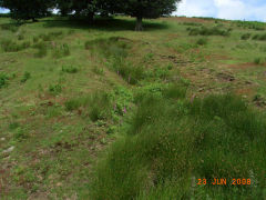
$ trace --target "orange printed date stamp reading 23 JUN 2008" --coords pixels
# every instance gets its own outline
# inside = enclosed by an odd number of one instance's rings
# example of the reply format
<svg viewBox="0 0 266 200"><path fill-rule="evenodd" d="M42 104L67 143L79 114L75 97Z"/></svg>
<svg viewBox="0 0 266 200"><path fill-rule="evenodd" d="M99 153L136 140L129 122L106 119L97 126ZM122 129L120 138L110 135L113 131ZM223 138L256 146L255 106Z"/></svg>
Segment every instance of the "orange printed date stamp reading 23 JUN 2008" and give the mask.
<svg viewBox="0 0 266 200"><path fill-rule="evenodd" d="M213 184L213 186L250 186L252 180L250 179L213 179L213 180L207 180L207 179L197 179L198 186L201 184Z"/></svg>

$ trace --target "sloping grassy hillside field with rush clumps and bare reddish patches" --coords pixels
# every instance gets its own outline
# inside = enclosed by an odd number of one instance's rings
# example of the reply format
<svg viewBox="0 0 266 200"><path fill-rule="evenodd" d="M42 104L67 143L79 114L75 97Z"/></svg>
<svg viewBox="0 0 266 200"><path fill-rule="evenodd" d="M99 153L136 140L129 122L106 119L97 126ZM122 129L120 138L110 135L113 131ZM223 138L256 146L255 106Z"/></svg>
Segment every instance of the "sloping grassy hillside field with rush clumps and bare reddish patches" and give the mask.
<svg viewBox="0 0 266 200"><path fill-rule="evenodd" d="M266 24L144 26L0 18L0 199L266 199Z"/></svg>

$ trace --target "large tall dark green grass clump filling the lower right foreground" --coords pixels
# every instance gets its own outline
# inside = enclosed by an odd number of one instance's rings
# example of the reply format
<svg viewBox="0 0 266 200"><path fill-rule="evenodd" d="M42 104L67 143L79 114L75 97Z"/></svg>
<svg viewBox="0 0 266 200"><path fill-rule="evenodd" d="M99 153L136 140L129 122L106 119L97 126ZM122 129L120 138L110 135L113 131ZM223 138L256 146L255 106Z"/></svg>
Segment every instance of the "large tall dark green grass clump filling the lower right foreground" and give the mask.
<svg viewBox="0 0 266 200"><path fill-rule="evenodd" d="M92 199L263 199L266 123L241 98L217 94L187 102L147 96L130 123L98 164ZM191 181L217 177L229 182L245 177L256 188L200 188Z"/></svg>

